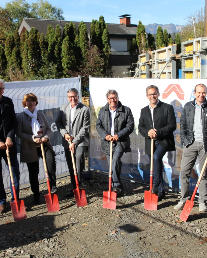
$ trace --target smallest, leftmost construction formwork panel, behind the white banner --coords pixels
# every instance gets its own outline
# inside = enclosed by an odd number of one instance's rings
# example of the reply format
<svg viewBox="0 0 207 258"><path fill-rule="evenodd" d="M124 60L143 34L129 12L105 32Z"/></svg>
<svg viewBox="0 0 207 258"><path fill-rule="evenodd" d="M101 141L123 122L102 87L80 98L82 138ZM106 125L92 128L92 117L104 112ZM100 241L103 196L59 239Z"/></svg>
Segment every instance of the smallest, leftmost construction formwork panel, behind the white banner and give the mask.
<svg viewBox="0 0 207 258"><path fill-rule="evenodd" d="M139 61L139 78L140 79L150 79L152 78L151 73L151 51L149 53L143 53L138 57Z"/></svg>

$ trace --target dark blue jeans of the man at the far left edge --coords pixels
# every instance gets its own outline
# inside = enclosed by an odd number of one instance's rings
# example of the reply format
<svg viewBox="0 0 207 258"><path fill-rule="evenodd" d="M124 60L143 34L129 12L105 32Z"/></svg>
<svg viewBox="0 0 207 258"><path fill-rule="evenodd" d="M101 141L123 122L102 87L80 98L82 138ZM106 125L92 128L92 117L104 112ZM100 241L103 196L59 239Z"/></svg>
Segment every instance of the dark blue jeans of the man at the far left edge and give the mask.
<svg viewBox="0 0 207 258"><path fill-rule="evenodd" d="M6 162L7 168L9 170L6 150L0 150L0 204L6 204L6 192L4 190L4 183L3 183L3 177L2 177L2 158ZM12 172L13 172L13 177L15 182L16 195L17 195L17 199L19 199L19 177L20 177L19 162L16 155L14 157L10 157L10 160L12 164ZM13 194L11 179L10 179L10 188L11 188L11 194L12 194L11 201L13 202L14 194Z"/></svg>

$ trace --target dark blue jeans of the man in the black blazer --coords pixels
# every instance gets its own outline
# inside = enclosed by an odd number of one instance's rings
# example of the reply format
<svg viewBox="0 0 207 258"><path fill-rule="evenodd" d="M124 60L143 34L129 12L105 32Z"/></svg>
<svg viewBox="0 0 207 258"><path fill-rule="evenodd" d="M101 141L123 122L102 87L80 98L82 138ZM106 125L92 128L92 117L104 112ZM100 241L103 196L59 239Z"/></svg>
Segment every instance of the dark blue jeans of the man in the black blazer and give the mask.
<svg viewBox="0 0 207 258"><path fill-rule="evenodd" d="M166 151L158 143L154 141L154 153L153 153L153 185L158 186L159 193L164 192L164 180L163 180L163 157ZM150 156L149 156L150 162Z"/></svg>

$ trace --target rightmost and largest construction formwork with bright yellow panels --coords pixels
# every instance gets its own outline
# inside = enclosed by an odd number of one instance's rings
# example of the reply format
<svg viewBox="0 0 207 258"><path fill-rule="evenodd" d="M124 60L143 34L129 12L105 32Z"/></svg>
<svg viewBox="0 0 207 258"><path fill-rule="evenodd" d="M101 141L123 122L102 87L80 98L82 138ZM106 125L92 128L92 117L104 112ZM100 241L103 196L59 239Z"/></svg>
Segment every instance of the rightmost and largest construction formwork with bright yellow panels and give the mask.
<svg viewBox="0 0 207 258"><path fill-rule="evenodd" d="M182 42L182 79L207 78L207 37Z"/></svg>

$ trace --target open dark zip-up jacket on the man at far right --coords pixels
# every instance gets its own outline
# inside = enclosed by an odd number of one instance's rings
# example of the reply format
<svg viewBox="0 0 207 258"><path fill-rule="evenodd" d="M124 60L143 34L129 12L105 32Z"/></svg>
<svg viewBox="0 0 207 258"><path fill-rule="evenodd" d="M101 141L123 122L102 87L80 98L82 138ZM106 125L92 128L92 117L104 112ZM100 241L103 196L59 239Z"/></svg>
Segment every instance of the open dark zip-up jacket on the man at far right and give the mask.
<svg viewBox="0 0 207 258"><path fill-rule="evenodd" d="M189 101L184 105L183 112L181 114L180 120L180 134L181 134L181 143L184 144L184 147L188 144L191 144L194 140L194 123L195 123L195 99ZM202 119L202 135L203 135L203 146L204 151L207 152L207 100L204 101L201 110L201 119Z"/></svg>

